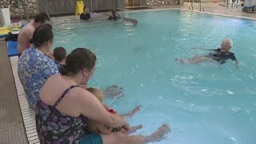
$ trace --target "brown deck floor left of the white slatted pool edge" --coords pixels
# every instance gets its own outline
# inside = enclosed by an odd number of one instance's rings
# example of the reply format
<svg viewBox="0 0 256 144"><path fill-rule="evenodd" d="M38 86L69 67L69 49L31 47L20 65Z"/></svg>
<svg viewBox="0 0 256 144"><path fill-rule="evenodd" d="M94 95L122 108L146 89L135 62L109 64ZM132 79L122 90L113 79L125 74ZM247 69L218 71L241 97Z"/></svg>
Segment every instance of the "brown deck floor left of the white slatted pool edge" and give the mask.
<svg viewBox="0 0 256 144"><path fill-rule="evenodd" d="M0 143L27 143L18 89L6 42L0 39Z"/></svg>

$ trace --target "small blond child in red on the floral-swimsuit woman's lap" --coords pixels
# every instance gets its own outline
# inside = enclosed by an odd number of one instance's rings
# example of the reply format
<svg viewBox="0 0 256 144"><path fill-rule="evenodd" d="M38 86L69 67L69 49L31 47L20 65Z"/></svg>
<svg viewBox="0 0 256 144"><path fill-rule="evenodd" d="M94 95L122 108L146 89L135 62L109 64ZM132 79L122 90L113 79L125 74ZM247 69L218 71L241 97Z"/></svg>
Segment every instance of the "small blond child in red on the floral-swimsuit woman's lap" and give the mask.
<svg viewBox="0 0 256 144"><path fill-rule="evenodd" d="M117 114L114 110L110 109L108 106L103 104L104 94L103 91L98 88L87 88L86 90L90 91L91 94L94 94L100 102L102 102L102 105L112 114ZM138 110L140 110L141 106L137 106L134 110L130 111L127 114L123 114L124 117L131 117L134 115ZM90 120L88 122L88 130L90 131L90 134L110 134L111 132L120 131L123 134L131 134L134 133L138 129L142 129L142 125L138 126L131 126L129 131L123 130L122 128L109 128L104 125L102 125L99 122L95 122L94 120Z"/></svg>

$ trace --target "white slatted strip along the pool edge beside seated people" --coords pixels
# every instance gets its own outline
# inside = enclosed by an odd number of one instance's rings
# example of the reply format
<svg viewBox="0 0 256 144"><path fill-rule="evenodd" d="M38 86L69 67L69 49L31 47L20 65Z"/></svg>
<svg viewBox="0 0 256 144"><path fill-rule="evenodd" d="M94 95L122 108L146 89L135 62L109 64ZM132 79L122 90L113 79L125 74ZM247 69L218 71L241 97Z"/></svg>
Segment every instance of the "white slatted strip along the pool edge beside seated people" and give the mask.
<svg viewBox="0 0 256 144"><path fill-rule="evenodd" d="M18 78L18 57L10 57L10 63L14 74L15 86L18 94L18 102L22 110L22 119L24 122L26 136L29 144L39 144L38 133L35 127L34 110L30 109L26 101L25 91Z"/></svg>

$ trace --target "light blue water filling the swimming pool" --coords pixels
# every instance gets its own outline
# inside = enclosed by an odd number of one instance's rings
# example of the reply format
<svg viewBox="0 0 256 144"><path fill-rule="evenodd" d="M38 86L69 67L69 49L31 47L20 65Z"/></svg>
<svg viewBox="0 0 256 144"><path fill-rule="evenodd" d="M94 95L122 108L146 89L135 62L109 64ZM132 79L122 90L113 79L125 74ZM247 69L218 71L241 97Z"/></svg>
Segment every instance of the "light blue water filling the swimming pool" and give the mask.
<svg viewBox="0 0 256 144"><path fill-rule="evenodd" d="M90 86L122 86L126 94L106 102L120 113L142 105L129 119L150 134L163 122L171 133L158 143L256 143L256 22L182 10L122 13L138 26L102 18L56 21L54 46L93 50L97 70ZM232 62L183 65L190 58L232 38Z"/></svg>

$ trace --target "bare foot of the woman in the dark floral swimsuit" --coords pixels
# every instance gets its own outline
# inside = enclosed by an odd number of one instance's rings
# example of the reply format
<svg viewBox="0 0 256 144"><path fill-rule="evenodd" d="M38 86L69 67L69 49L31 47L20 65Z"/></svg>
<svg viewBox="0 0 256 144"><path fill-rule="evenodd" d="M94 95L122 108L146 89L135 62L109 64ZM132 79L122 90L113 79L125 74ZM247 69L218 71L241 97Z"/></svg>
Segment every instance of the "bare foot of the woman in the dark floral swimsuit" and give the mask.
<svg viewBox="0 0 256 144"><path fill-rule="evenodd" d="M159 142L169 131L170 127L167 124L162 124L157 131L146 137L146 142Z"/></svg>

